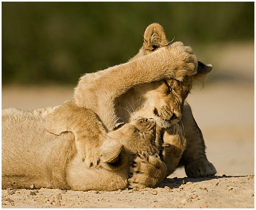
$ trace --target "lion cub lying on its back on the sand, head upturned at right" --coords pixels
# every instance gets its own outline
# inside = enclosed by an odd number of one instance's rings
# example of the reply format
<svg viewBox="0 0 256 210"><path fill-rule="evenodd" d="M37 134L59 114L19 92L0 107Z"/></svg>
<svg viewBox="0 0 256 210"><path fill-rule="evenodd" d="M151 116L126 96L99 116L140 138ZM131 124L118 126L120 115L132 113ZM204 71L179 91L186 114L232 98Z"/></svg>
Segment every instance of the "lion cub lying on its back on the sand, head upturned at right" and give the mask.
<svg viewBox="0 0 256 210"><path fill-rule="evenodd" d="M153 187L164 179L166 166L155 146L154 119L139 117L107 134L94 112L84 108L88 132L93 138L105 138L99 165L85 167L73 133L58 136L45 131L44 115L53 109L2 110L3 189L34 184L36 188L110 191ZM129 180L134 172L139 175Z"/></svg>

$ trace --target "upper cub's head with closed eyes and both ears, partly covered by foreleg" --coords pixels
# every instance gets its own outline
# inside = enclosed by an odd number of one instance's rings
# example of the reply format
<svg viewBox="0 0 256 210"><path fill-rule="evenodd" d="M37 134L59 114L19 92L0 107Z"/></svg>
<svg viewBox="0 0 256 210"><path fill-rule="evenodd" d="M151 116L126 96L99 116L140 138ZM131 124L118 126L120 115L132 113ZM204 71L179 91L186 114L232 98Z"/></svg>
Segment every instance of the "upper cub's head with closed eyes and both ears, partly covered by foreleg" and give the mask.
<svg viewBox="0 0 256 210"><path fill-rule="evenodd" d="M143 45L130 61L170 44L172 43L167 41L163 27L158 23L153 23L146 28ZM137 99L133 96L134 101L141 103L135 102L133 105L135 104L137 107L129 107L128 109L133 110L131 111L132 115L154 118L159 127L170 127L181 119L184 101L194 81L201 80L204 83L206 75L211 69L211 64L205 65L198 61L197 73L193 76L187 76L182 82L175 79L165 79L138 85L134 87L132 94L140 98Z"/></svg>

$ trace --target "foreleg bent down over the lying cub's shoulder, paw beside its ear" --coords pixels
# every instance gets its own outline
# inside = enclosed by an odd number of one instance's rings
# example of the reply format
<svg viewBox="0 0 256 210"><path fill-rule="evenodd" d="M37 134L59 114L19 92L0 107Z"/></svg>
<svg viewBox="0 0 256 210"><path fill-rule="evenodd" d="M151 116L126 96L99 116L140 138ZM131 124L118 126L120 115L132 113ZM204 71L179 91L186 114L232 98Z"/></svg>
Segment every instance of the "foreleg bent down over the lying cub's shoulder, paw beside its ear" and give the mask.
<svg viewBox="0 0 256 210"><path fill-rule="evenodd" d="M107 134L92 110L77 107L73 101L67 101L47 115L45 128L57 135L66 131L73 132L78 155L85 165L89 167L99 164L100 146Z"/></svg>

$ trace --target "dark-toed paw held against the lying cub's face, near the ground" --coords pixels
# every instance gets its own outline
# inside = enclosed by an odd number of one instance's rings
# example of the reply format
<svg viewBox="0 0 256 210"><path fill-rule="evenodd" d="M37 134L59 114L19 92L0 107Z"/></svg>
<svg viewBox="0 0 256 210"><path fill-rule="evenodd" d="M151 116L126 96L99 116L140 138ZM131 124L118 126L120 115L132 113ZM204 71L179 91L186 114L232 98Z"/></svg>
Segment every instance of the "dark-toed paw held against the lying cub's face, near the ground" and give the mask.
<svg viewBox="0 0 256 210"><path fill-rule="evenodd" d="M166 176L166 166L157 154L145 153L135 158L130 169L129 188L147 188L159 184Z"/></svg>

